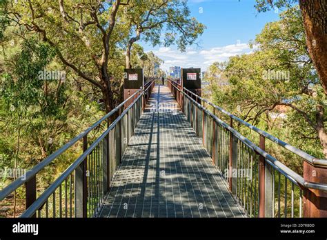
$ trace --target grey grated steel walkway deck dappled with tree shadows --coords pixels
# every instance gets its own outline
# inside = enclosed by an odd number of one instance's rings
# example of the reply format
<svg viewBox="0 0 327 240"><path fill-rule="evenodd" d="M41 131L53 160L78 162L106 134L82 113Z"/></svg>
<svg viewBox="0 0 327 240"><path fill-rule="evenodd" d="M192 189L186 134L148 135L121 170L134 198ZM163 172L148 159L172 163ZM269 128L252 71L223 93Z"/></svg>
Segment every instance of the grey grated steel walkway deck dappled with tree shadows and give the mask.
<svg viewBox="0 0 327 240"><path fill-rule="evenodd" d="M168 88L155 86L99 217L244 216Z"/></svg>

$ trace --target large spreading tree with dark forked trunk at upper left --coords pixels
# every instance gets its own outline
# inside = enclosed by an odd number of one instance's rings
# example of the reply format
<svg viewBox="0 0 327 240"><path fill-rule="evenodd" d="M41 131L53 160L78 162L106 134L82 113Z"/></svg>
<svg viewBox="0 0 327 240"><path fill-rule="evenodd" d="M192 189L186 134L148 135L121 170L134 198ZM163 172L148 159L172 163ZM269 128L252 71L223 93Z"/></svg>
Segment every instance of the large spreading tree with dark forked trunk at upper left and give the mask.
<svg viewBox="0 0 327 240"><path fill-rule="evenodd" d="M102 92L106 111L115 107L111 59L128 31L117 21L119 8L129 1L6 1L9 27L39 35L54 48L63 65ZM119 30L115 30L119 28ZM21 36L23 37L23 36Z"/></svg>

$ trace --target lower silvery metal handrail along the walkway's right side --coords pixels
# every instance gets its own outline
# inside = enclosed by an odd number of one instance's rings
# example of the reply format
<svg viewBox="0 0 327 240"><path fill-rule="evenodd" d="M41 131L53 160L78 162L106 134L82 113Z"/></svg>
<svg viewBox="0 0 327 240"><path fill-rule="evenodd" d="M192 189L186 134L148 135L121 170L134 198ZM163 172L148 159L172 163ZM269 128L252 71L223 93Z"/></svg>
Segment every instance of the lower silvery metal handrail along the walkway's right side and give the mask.
<svg viewBox="0 0 327 240"><path fill-rule="evenodd" d="M172 84L172 86L174 86L174 84ZM212 112L210 112L208 109L206 109L200 103L197 103L197 101L195 101L195 99L192 99L192 97L190 97L189 94L187 94L183 90L179 90L176 86L174 86L174 87L177 89L177 91L181 92L181 94L184 94L184 96L186 96L188 99L190 99L190 101L192 101L198 108L201 108L201 110L204 110L204 112L206 112L207 114L209 114L212 117L212 119L215 119L215 121L217 121L218 123L220 123L221 126L224 126L224 128L226 128L230 132L232 132L232 134L235 137L237 137L237 139L239 139L243 143L246 143L246 145L250 146L253 150L255 150L255 152L257 152L262 157L264 157L265 158L265 161L268 160L270 163L273 163L275 166L277 166L278 168L280 168L284 173L288 174L288 177L291 177L292 179L295 179L295 181L297 181L297 183L299 183L299 185L303 186L304 188L312 188L312 189L327 191L327 184L313 183L313 182L305 181L303 177L301 177L299 174L297 174L296 172L294 172L293 170L291 170L290 168L288 168L286 165L284 165L284 163L281 163L281 161L278 161L277 159L275 159L275 157L273 157L270 154L268 154L268 152L266 152L265 150L262 150L261 148L259 148L258 146L256 146L255 143L252 143L252 141L250 141L249 139L247 139L246 137L244 137L242 134L240 134L239 132L237 132L237 130L235 130L234 128L230 127L227 123L225 123L224 121L222 121L221 119L219 119L215 114L213 114ZM184 90L186 90L186 88L184 88ZM190 92L190 91L188 90L188 92ZM195 96L199 97L196 94L195 94ZM281 172L281 173L283 173L283 172Z"/></svg>

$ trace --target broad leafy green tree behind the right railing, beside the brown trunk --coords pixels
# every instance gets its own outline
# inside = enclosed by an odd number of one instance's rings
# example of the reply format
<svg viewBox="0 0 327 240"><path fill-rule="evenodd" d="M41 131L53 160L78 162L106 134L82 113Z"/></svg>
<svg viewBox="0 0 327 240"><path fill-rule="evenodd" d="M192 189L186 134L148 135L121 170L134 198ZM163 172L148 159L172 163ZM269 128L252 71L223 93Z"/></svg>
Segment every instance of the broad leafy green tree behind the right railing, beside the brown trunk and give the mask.
<svg viewBox="0 0 327 240"><path fill-rule="evenodd" d="M289 8L280 17L257 35L257 51L230 58L229 85L216 90L215 101L247 121L264 121L267 130L279 123L295 146L308 152L317 146L322 151L314 154L327 157L326 99L306 48L301 12ZM287 117L276 118L281 113Z"/></svg>

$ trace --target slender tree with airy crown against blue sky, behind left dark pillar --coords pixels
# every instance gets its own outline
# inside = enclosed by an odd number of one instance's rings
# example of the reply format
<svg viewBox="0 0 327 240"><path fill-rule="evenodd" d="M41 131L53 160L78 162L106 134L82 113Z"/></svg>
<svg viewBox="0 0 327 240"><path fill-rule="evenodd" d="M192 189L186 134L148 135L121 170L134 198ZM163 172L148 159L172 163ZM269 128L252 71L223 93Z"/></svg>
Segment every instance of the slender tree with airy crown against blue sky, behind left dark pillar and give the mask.
<svg viewBox="0 0 327 240"><path fill-rule="evenodd" d="M133 43L143 40L152 46L161 44L161 32L164 34L164 46L177 43L184 51L188 44L195 43L204 32L205 26L190 17L190 10L184 0L131 1L126 8L126 18L130 26L130 36L126 46L126 68L131 68L130 53Z"/></svg>

